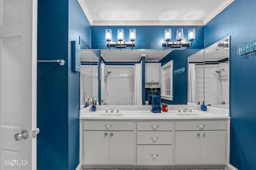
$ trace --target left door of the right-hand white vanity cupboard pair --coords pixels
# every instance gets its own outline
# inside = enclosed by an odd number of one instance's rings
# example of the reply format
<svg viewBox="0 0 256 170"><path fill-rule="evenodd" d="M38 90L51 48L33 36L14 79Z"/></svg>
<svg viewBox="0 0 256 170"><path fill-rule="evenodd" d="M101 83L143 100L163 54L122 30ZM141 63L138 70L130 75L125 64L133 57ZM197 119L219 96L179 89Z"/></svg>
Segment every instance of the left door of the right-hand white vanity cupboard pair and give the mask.
<svg viewBox="0 0 256 170"><path fill-rule="evenodd" d="M175 164L200 163L200 131L175 132Z"/></svg>

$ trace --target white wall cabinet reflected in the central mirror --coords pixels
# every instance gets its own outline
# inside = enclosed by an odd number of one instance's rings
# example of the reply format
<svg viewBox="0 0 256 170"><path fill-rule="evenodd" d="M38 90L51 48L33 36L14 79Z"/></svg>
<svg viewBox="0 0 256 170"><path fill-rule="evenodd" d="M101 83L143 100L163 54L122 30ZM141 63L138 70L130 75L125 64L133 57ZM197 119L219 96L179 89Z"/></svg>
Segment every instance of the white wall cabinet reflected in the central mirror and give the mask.
<svg viewBox="0 0 256 170"><path fill-rule="evenodd" d="M145 82L160 82L161 63L145 63Z"/></svg>

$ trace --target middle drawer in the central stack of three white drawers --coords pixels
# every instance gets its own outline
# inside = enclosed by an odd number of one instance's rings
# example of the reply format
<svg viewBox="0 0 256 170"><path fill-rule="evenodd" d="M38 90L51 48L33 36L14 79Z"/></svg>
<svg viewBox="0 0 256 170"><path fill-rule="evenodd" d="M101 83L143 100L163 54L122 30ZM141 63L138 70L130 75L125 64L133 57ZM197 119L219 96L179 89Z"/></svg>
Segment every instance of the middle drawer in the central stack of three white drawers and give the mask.
<svg viewBox="0 0 256 170"><path fill-rule="evenodd" d="M172 145L172 131L138 131L137 145Z"/></svg>

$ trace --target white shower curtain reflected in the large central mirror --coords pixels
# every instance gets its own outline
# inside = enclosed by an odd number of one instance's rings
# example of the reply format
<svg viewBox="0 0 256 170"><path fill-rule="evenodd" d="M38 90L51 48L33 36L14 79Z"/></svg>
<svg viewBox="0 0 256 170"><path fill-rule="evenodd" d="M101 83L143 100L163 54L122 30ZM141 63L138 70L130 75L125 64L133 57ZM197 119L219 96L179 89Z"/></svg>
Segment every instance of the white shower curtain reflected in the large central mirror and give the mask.
<svg viewBox="0 0 256 170"><path fill-rule="evenodd" d="M142 105L142 81L141 64L134 64L134 92L133 105Z"/></svg>

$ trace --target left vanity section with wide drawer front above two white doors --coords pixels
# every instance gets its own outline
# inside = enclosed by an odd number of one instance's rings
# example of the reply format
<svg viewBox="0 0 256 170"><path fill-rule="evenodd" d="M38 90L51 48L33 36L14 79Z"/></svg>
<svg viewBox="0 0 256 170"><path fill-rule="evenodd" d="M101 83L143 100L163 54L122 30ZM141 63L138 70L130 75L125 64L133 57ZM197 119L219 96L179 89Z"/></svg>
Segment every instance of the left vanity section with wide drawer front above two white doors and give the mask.
<svg viewBox="0 0 256 170"><path fill-rule="evenodd" d="M134 122L84 121L84 164L134 164Z"/></svg>

